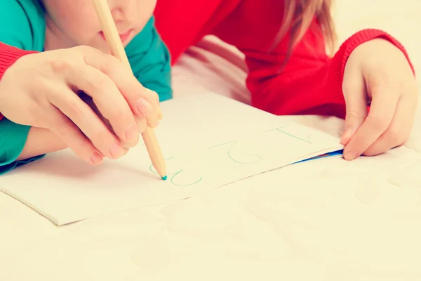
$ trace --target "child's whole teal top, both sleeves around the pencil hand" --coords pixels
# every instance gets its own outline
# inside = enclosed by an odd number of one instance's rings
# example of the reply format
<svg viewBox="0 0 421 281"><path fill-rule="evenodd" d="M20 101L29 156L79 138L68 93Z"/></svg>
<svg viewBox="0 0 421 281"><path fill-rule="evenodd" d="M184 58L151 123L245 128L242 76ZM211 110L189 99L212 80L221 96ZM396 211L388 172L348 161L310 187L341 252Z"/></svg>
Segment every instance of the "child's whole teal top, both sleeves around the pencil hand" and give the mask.
<svg viewBox="0 0 421 281"><path fill-rule="evenodd" d="M39 0L0 0L0 41L26 51L44 51L46 22ZM171 66L168 48L154 27L154 18L126 46L133 73L161 101L172 98ZM13 94L13 93L10 93ZM0 175L44 155L15 161L22 152L29 126L0 120Z"/></svg>

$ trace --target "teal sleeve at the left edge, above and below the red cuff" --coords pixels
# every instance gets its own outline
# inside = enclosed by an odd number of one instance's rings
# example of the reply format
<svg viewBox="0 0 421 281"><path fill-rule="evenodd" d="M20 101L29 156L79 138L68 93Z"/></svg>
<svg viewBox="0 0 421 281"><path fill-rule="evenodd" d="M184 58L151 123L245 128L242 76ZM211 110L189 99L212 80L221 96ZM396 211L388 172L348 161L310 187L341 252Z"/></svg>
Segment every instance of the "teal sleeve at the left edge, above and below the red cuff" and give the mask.
<svg viewBox="0 0 421 281"><path fill-rule="evenodd" d="M33 0L0 0L0 41L2 43L27 51L42 51L39 47L44 46L45 25L43 13L35 2ZM29 126L15 124L6 117L0 120L0 175L44 156L15 161L25 146L29 129Z"/></svg>

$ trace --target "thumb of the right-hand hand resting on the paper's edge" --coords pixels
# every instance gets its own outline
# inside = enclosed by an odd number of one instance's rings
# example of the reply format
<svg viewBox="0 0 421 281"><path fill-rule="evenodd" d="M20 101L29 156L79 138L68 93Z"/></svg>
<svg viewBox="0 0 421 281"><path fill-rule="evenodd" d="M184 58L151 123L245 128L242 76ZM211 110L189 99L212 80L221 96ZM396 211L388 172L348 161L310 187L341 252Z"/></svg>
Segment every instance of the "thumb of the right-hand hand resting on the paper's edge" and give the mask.
<svg viewBox="0 0 421 281"><path fill-rule="evenodd" d="M367 117L366 86L359 67L348 69L345 67L342 83L346 104L345 129L341 136L341 144L347 145L354 133L361 127Z"/></svg>

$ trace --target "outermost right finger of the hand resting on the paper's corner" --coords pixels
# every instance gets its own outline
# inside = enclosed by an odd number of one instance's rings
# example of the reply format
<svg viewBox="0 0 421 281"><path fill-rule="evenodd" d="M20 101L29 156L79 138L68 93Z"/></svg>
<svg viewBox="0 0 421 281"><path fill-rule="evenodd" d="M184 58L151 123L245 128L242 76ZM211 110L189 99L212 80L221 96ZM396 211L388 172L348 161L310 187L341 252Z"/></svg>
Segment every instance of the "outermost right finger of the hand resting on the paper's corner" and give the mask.
<svg viewBox="0 0 421 281"><path fill-rule="evenodd" d="M387 150L403 145L413 128L415 110L417 109L417 95L404 94L399 98L396 112L385 133L373 145L363 152L363 155L380 155Z"/></svg>

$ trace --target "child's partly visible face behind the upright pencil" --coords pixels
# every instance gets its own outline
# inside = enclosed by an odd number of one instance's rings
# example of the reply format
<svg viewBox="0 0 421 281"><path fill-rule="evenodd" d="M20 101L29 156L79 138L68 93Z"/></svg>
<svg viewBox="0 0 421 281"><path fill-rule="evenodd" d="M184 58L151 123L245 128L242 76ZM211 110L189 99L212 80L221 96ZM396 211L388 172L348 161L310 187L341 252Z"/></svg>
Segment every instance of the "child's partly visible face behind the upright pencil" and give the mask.
<svg viewBox="0 0 421 281"><path fill-rule="evenodd" d="M43 1L47 11L47 40L54 41L56 48L86 45L109 53L92 0ZM156 0L107 2L124 46L145 27L156 5Z"/></svg>

